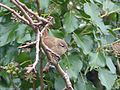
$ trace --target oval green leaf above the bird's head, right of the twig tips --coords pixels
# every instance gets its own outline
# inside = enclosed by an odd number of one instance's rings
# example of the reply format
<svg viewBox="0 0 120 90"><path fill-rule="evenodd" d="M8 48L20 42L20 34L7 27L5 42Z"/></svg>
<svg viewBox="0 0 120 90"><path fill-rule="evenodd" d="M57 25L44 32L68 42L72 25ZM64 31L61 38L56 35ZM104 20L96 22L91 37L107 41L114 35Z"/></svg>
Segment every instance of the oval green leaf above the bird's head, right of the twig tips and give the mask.
<svg viewBox="0 0 120 90"><path fill-rule="evenodd" d="M67 12L64 15L63 28L66 33L71 33L78 28L78 19L75 17L74 13Z"/></svg>

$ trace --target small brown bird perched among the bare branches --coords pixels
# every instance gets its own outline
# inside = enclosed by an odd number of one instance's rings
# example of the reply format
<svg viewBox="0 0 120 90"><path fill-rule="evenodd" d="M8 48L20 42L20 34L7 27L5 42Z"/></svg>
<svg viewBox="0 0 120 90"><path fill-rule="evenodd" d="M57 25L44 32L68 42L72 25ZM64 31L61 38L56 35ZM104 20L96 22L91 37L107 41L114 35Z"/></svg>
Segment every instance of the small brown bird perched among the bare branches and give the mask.
<svg viewBox="0 0 120 90"><path fill-rule="evenodd" d="M52 59L56 60L57 62L60 60L60 57L68 50L67 43L60 38L47 35L43 37L43 42L49 49L47 52L50 52ZM48 62L44 67L43 72L49 71L50 68L53 68L53 65Z"/></svg>

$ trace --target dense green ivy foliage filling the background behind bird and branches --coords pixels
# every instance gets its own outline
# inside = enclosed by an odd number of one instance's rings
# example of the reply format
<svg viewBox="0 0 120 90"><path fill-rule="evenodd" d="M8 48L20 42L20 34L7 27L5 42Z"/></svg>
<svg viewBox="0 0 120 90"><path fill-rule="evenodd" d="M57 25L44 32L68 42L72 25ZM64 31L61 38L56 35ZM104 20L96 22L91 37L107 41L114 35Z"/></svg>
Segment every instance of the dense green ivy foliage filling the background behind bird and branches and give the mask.
<svg viewBox="0 0 120 90"><path fill-rule="evenodd" d="M0 1L17 10L9 0ZM34 0L20 1L37 12ZM74 89L119 90L119 0L39 1L41 15L54 17L54 25L49 29L50 35L65 39L69 45L68 53L59 63L70 76ZM33 77L36 78L33 82L26 81L24 74L24 68L35 60L35 48L17 48L27 41L33 41L35 34L29 26L11 18L12 14L0 7L0 89L28 90L35 85L37 90L40 88L39 73ZM117 49L114 49L115 45L118 45ZM8 68L11 64L14 69ZM64 88L55 69L44 74L44 83L46 90Z"/></svg>

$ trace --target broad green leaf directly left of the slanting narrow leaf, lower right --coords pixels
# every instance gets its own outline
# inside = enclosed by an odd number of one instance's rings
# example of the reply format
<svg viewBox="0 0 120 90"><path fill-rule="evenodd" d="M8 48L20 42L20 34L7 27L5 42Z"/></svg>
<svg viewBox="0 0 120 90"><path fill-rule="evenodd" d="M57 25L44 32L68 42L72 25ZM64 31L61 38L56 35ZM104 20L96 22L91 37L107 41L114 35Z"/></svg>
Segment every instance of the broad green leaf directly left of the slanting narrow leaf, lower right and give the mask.
<svg viewBox="0 0 120 90"><path fill-rule="evenodd" d="M105 56L101 52L90 53L89 64L92 68L104 67L106 64Z"/></svg>

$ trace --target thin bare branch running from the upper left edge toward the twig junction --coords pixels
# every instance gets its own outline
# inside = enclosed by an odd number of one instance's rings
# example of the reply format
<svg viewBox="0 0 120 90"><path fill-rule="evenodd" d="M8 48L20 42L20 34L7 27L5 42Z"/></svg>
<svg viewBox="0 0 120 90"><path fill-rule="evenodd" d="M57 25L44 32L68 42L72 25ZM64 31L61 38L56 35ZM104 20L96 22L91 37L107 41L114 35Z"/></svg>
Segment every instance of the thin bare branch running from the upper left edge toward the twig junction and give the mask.
<svg viewBox="0 0 120 90"><path fill-rule="evenodd" d="M18 17L20 20L22 20L26 24L30 25L29 21L26 20L24 17L20 16L19 13L17 13L14 9L12 9L12 8L10 8L10 7L2 4L2 3L0 3L0 6L3 7L3 8L5 8L5 9L7 9L7 10L9 10L11 13L13 13L14 15L16 15L16 17Z"/></svg>

